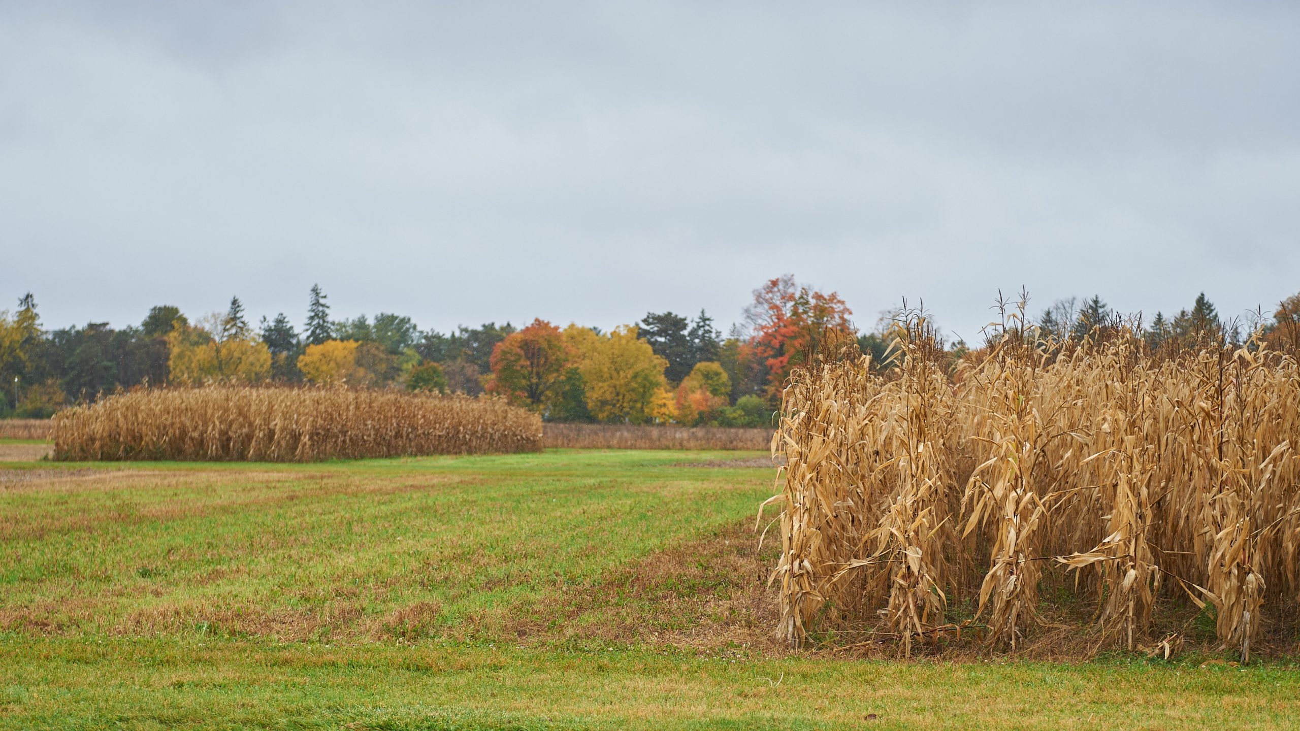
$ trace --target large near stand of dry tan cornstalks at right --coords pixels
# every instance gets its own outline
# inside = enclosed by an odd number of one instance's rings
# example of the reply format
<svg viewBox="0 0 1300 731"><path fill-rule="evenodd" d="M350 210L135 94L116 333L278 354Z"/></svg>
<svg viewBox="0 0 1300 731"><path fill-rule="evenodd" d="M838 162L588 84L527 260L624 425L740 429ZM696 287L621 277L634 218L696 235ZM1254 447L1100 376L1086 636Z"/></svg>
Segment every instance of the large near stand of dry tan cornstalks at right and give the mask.
<svg viewBox="0 0 1300 731"><path fill-rule="evenodd" d="M768 501L783 639L862 632L911 654L965 631L1015 650L1045 633L1052 589L1088 610L1098 646L1167 653L1171 615L1197 609L1243 659L1252 640L1294 643L1295 359L1009 326L950 372L923 319L897 330L888 377L850 347L785 392Z"/></svg>

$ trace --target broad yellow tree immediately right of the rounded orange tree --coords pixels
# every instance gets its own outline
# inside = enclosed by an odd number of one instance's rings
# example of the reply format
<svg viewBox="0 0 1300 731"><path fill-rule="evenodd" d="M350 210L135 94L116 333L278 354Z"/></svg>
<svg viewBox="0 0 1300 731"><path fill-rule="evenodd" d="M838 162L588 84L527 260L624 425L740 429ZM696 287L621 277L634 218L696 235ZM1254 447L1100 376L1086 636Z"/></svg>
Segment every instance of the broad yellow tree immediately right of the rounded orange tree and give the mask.
<svg viewBox="0 0 1300 731"><path fill-rule="evenodd" d="M663 377L668 362L637 337L636 325L621 325L607 336L588 336L573 328L564 334L577 349L586 407L593 416L630 424L672 418L673 398Z"/></svg>

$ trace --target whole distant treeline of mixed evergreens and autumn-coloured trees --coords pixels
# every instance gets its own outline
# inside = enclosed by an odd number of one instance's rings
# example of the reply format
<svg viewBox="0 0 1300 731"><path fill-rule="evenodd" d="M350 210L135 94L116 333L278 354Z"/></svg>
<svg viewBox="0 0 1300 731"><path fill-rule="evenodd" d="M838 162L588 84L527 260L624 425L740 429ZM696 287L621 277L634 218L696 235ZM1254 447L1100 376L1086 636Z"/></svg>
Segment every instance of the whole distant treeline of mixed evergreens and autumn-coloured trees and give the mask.
<svg viewBox="0 0 1300 731"><path fill-rule="evenodd" d="M785 274L753 293L742 321L723 337L703 311L694 317L647 312L610 332L537 319L524 328L485 323L452 332L420 330L411 317L380 312L334 320L313 285L302 332L277 313L254 326L238 297L224 313L190 320L174 306L150 310L139 325L107 323L46 330L29 293L0 311L0 418L44 418L77 402L142 385L208 381L346 384L439 393L499 394L554 421L768 425L790 369L827 338L850 338L888 368L901 308L858 332L836 293ZM1275 349L1300 349L1300 294L1271 317L1223 320L1200 294L1171 317L1121 315L1098 295L1058 299L1032 324L1040 336L1079 341L1123 324L1152 349L1195 342L1240 343L1265 333ZM954 360L968 347L940 341Z"/></svg>

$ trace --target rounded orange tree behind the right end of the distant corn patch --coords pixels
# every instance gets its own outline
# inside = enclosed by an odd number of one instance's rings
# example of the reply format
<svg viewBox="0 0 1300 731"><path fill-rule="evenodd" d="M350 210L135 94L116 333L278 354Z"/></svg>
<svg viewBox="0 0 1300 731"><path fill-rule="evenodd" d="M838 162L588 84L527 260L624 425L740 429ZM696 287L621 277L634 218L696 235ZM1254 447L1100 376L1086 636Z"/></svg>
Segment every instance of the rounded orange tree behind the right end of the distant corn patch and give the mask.
<svg viewBox="0 0 1300 731"><path fill-rule="evenodd" d="M488 390L534 411L563 380L569 349L560 329L546 320L506 336L491 351Z"/></svg>

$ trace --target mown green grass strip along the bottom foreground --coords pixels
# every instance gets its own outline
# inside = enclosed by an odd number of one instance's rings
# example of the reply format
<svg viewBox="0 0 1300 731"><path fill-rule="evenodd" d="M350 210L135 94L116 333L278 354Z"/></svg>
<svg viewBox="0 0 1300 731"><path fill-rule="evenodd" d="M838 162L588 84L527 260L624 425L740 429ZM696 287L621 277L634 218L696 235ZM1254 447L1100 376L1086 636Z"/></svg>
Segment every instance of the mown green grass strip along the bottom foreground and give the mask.
<svg viewBox="0 0 1300 731"><path fill-rule="evenodd" d="M13 728L1291 728L1290 669L0 640ZM779 684L777 684L779 683Z"/></svg>

